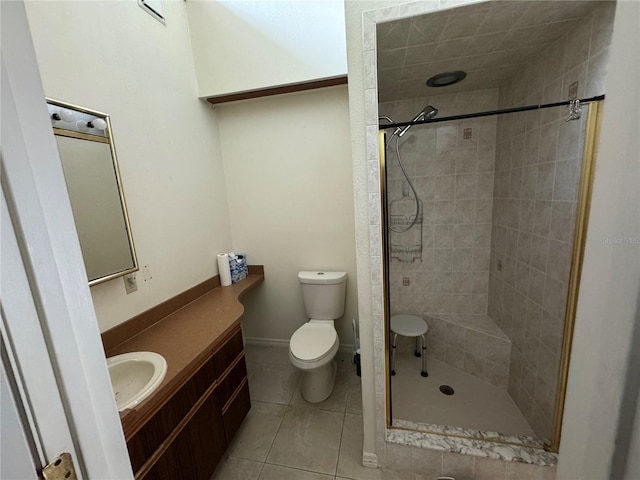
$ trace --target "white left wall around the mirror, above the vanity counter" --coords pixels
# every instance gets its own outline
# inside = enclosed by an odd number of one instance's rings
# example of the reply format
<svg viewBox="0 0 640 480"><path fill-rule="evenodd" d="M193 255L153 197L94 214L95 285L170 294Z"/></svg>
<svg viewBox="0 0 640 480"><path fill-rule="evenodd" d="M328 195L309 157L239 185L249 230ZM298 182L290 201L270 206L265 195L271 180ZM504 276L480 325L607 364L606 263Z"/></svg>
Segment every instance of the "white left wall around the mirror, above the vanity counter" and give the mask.
<svg viewBox="0 0 640 480"><path fill-rule="evenodd" d="M167 25L136 2L26 3L45 94L111 115L141 266L91 288L104 331L217 274L231 249L215 112L198 100L183 2Z"/></svg>

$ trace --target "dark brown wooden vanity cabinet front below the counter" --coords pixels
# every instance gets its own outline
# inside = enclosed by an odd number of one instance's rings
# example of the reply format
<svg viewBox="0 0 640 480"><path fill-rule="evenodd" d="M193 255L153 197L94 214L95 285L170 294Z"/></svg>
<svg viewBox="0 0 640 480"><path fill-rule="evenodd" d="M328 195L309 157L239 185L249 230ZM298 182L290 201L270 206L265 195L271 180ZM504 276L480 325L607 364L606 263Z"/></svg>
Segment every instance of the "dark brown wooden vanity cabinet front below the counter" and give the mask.
<svg viewBox="0 0 640 480"><path fill-rule="evenodd" d="M251 408L240 327L127 441L136 479L209 479Z"/></svg>

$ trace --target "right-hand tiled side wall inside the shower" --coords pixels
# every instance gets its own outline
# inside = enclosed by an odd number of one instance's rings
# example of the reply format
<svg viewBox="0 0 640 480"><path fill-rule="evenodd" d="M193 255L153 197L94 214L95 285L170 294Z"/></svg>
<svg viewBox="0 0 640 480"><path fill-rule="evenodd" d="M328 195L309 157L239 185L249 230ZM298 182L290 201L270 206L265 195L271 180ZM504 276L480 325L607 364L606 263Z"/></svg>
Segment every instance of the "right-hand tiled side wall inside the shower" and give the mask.
<svg viewBox="0 0 640 480"><path fill-rule="evenodd" d="M594 11L500 89L500 108L605 93L615 4ZM586 107L498 120L489 316L511 339L508 391L535 432L551 437ZM501 269L498 268L498 263Z"/></svg>

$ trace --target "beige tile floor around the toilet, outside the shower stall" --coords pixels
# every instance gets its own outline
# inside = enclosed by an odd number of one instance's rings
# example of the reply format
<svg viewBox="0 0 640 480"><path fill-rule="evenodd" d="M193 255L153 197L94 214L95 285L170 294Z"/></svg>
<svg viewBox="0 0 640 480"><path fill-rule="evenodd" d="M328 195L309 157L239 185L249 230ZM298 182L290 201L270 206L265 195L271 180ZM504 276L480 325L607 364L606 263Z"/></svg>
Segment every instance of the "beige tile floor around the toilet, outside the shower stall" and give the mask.
<svg viewBox="0 0 640 480"><path fill-rule="evenodd" d="M362 467L362 397L351 355L339 352L331 396L300 394L287 347L247 345L252 408L212 480L387 478ZM393 477L389 477L393 478Z"/></svg>

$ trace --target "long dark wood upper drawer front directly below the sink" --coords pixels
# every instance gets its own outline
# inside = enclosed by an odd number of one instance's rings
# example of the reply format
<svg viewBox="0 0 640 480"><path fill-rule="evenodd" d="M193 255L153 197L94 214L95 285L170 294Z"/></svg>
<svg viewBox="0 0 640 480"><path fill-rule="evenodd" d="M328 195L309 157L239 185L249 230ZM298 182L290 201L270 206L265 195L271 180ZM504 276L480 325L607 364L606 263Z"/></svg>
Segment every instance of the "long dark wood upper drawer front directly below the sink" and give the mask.
<svg viewBox="0 0 640 480"><path fill-rule="evenodd" d="M134 473L165 441L215 380L214 361L210 358L127 442Z"/></svg>

